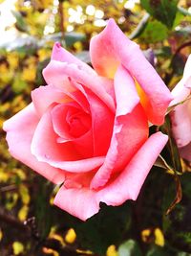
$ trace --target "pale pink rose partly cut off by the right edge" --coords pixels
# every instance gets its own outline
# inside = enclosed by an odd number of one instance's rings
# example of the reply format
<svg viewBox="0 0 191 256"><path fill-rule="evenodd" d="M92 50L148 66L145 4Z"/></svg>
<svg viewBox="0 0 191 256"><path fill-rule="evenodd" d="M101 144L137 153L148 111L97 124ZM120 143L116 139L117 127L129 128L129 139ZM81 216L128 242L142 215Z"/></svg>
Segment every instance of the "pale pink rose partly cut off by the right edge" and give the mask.
<svg viewBox="0 0 191 256"><path fill-rule="evenodd" d="M191 55L186 61L182 79L172 90L174 100L171 105L185 102L177 105L170 114L173 135L177 142L180 156L188 161L191 161L191 99L186 100L186 98L190 96L190 88Z"/></svg>

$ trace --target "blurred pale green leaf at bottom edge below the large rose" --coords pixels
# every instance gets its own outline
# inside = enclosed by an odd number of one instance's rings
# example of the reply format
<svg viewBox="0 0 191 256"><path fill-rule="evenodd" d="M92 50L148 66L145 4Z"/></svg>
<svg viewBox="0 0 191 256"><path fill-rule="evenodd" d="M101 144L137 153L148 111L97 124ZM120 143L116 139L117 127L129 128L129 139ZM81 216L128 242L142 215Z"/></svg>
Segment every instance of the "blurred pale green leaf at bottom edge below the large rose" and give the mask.
<svg viewBox="0 0 191 256"><path fill-rule="evenodd" d="M118 256L141 256L142 253L138 246L138 243L134 240L128 240L127 242L120 244L118 248Z"/></svg>

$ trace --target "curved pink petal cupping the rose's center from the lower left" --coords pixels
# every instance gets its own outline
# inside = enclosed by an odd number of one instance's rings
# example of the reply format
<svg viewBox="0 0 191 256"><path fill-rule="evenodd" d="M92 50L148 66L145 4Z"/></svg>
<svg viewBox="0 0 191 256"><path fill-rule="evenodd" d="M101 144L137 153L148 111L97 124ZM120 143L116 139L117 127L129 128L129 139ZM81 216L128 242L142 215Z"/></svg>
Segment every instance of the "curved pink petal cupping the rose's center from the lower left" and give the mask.
<svg viewBox="0 0 191 256"><path fill-rule="evenodd" d="M82 159L73 143L57 143L56 139L51 113L46 112L38 123L32 138L32 154L38 161L74 173L90 172L104 161L103 156Z"/></svg>

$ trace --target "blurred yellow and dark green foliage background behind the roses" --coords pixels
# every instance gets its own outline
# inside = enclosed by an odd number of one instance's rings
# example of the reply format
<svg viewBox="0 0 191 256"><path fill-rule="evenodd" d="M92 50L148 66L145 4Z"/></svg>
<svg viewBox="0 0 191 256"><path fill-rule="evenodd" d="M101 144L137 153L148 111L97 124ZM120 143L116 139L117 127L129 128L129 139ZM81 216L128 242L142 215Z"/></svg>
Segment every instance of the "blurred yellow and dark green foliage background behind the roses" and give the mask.
<svg viewBox="0 0 191 256"><path fill-rule="evenodd" d="M190 0L1 0L1 128L45 84L53 42L90 63L90 38L110 17L175 86L191 53ZM170 133L168 118L160 129ZM137 202L82 222L53 206L56 188L11 157L1 129L0 255L191 255L190 167L173 139L162 155Z"/></svg>

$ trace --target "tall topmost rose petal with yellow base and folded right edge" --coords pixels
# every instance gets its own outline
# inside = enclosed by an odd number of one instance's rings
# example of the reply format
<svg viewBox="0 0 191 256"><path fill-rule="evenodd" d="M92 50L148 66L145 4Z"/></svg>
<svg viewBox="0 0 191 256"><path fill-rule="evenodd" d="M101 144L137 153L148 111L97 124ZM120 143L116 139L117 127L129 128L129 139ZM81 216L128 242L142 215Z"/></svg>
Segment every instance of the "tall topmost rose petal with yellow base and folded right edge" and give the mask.
<svg viewBox="0 0 191 256"><path fill-rule="evenodd" d="M150 105L143 105L149 120L156 125L163 123L166 108L172 100L170 91L138 45L119 30L113 19L103 32L92 38L90 53L93 66L101 76L114 78L117 66L124 65L149 100Z"/></svg>

